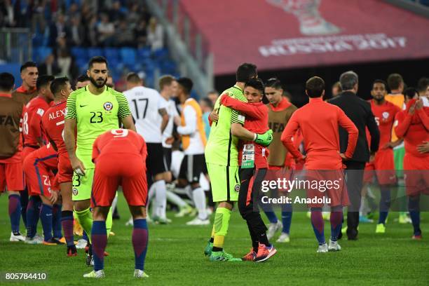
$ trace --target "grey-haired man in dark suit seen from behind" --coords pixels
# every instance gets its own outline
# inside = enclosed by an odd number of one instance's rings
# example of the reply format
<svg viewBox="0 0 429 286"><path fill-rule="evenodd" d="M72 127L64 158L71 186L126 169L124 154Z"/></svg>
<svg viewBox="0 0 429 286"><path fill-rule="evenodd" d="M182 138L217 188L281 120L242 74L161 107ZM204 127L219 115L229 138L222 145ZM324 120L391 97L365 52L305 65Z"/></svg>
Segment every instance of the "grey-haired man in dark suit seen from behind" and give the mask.
<svg viewBox="0 0 429 286"><path fill-rule="evenodd" d="M349 240L357 239L357 226L359 225L360 192L362 190L363 170L365 163L374 160L374 154L379 149L380 132L371 111L369 102L356 95L358 79L354 71L346 71L340 76L340 85L343 90L339 96L329 100L329 103L341 108L348 118L355 123L359 130L359 137L353 158L345 161L346 184L350 205L347 213L347 237ZM365 128L371 135L371 151L368 149ZM346 151L348 133L343 128L339 130L341 152Z"/></svg>

